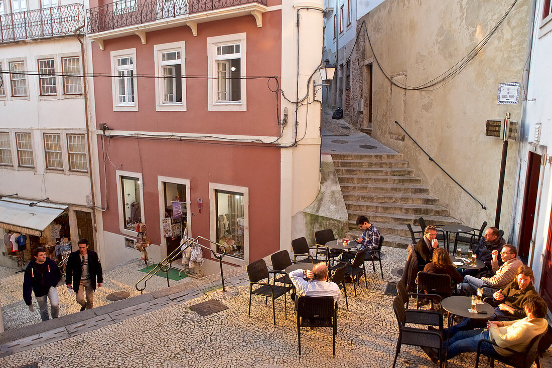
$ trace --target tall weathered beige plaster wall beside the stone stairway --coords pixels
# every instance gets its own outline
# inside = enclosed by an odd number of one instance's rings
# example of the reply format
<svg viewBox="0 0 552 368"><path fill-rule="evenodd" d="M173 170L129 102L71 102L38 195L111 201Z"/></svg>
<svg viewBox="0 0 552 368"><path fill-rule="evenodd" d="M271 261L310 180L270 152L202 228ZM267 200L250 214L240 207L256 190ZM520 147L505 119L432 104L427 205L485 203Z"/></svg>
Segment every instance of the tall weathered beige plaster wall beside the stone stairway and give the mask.
<svg viewBox="0 0 552 368"><path fill-rule="evenodd" d="M521 120L521 103L498 105L497 92L499 83L521 82L527 58L529 4L529 0L518 1L485 47L454 78L424 90L392 87L374 58L390 78L420 86L462 60L490 33L511 2L388 0L357 22L366 21L374 50L367 40L359 42L352 77L354 83L362 81L365 65L372 63L372 135L403 153L439 203L469 226L495 220L502 141L485 136L485 121L503 119L507 112L513 120ZM352 103L360 98L367 101L367 93L367 88L353 88ZM428 161L395 120L487 209ZM518 142L510 142L500 223L506 238L511 234L508 227L517 153Z"/></svg>

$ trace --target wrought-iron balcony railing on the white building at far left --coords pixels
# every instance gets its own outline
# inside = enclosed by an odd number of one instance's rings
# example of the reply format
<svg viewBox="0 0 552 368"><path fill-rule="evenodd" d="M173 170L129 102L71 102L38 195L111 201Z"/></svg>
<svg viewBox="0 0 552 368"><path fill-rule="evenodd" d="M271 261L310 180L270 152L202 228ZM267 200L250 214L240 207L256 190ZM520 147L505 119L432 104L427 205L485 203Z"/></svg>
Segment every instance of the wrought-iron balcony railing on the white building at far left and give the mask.
<svg viewBox="0 0 552 368"><path fill-rule="evenodd" d="M84 25L82 4L26 10L0 15L0 41L72 35ZM84 33L80 31L79 33Z"/></svg>

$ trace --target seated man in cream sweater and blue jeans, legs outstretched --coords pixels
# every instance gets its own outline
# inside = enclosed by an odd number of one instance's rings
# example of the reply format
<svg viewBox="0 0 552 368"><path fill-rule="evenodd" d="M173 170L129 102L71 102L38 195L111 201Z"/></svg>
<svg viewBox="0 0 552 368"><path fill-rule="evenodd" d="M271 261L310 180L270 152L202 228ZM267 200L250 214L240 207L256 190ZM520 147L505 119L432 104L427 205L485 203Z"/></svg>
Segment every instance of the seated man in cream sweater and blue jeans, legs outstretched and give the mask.
<svg viewBox="0 0 552 368"><path fill-rule="evenodd" d="M490 356L510 356L513 353L503 348L509 348L522 353L527 349L529 342L548 328L546 316L546 302L539 295L529 295L523 306L527 317L516 321L489 321L489 329L475 329L460 331L448 340L447 359L454 358L461 353L474 353L477 344L482 339L495 342L498 346L489 343L481 344L482 353ZM444 343L446 346L447 342ZM444 353L443 353L444 354ZM430 357L431 358L431 357ZM442 357L443 358L443 357ZM432 360L434 357L432 358Z"/></svg>

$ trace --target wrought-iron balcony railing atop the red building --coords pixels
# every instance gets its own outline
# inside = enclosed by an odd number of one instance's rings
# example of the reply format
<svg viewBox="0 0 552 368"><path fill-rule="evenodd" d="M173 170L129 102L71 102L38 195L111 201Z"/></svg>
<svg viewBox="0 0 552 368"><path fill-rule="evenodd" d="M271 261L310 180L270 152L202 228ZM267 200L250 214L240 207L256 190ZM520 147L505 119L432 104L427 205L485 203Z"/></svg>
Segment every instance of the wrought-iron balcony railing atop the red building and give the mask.
<svg viewBox="0 0 552 368"><path fill-rule="evenodd" d="M88 9L88 33L267 0L119 0Z"/></svg>

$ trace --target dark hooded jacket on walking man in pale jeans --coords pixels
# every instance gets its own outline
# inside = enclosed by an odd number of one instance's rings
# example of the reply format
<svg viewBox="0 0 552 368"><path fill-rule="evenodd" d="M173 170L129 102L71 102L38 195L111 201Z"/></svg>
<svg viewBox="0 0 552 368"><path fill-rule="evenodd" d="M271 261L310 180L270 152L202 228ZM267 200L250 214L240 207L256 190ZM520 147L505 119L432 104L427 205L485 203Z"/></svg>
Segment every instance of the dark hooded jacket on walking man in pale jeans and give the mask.
<svg viewBox="0 0 552 368"><path fill-rule="evenodd" d="M31 290L35 296L44 296L48 294L50 287L56 287L61 279L61 270L55 260L46 257L42 273L36 268L36 265L36 259L31 260L23 275L23 300L28 306L32 301Z"/></svg>

